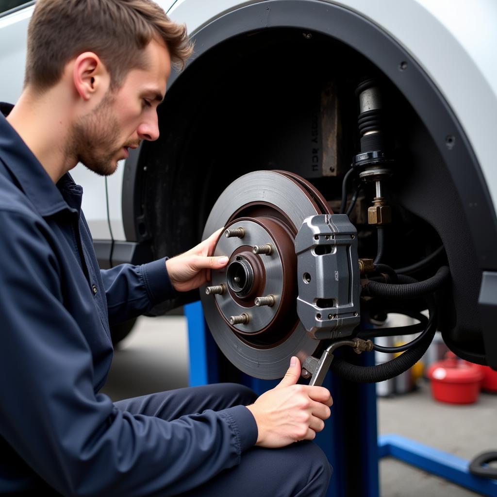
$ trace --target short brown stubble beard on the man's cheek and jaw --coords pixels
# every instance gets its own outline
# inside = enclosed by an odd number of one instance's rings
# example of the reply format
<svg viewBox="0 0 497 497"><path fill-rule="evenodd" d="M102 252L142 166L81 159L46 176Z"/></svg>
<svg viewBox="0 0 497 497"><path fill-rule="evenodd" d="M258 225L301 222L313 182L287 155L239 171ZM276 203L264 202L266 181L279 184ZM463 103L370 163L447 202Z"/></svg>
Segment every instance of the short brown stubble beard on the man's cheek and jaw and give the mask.
<svg viewBox="0 0 497 497"><path fill-rule="evenodd" d="M76 156L88 169L108 176L117 169L114 159L118 145L119 123L112 112L113 96L107 92L98 106L73 124L66 157Z"/></svg>

